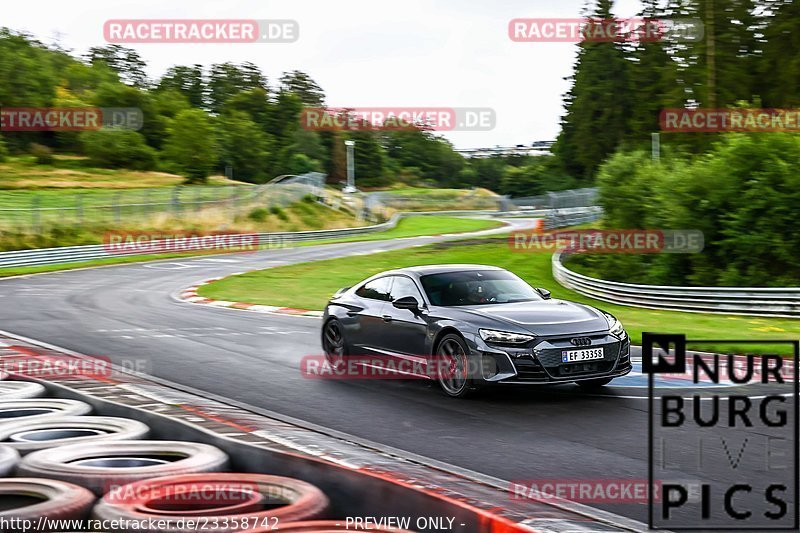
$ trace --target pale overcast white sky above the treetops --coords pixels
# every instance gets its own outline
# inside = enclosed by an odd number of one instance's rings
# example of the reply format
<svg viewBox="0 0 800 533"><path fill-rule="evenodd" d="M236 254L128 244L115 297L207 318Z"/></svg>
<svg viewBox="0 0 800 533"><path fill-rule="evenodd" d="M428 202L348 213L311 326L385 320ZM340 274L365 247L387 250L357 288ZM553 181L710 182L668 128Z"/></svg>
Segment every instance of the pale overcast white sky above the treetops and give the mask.
<svg viewBox="0 0 800 533"><path fill-rule="evenodd" d="M563 114L564 79L577 45L521 43L515 18L574 18L585 0L25 0L4 2L0 25L82 55L107 44L109 19L291 19L293 43L138 44L157 78L176 64L250 61L271 82L302 70L332 107L491 108L489 131L443 133L459 148L554 140ZM637 0L617 0L634 16Z"/></svg>

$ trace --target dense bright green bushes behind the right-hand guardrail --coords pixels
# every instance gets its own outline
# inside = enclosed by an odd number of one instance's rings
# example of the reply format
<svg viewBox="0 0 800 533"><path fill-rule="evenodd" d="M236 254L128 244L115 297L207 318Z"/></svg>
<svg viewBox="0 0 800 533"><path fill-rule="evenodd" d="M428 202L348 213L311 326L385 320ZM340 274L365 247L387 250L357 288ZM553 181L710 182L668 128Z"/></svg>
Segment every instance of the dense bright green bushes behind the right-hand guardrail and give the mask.
<svg viewBox="0 0 800 533"><path fill-rule="evenodd" d="M795 286L800 136L729 134L705 156L653 163L619 153L600 170L605 225L696 229L699 254L592 256L603 277L655 284Z"/></svg>

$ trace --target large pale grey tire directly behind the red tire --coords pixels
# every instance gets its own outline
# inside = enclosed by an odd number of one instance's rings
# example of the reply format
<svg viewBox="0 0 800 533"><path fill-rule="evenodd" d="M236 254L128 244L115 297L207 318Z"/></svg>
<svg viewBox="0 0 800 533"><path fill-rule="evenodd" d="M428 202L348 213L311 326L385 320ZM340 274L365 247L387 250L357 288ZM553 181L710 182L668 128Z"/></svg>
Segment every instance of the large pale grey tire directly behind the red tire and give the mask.
<svg viewBox="0 0 800 533"><path fill-rule="evenodd" d="M33 452L17 473L75 483L102 496L136 481L230 469L228 454L184 441L118 441L72 444Z"/></svg>

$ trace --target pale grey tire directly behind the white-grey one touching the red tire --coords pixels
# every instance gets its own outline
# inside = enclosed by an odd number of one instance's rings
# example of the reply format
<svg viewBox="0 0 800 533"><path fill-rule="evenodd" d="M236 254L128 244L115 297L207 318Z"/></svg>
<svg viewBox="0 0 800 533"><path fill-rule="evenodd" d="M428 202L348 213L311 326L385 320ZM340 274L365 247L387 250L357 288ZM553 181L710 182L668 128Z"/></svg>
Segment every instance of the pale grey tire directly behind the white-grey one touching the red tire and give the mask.
<svg viewBox="0 0 800 533"><path fill-rule="evenodd" d="M128 418L65 416L34 422L0 425L0 443L21 455L65 444L139 440L150 432L145 424Z"/></svg>

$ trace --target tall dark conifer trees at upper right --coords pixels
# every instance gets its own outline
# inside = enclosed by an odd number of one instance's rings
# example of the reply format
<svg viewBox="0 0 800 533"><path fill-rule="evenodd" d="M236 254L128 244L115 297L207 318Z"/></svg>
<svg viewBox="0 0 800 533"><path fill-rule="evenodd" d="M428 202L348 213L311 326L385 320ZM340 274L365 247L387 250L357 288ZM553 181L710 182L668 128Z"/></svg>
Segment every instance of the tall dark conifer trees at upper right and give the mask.
<svg viewBox="0 0 800 533"><path fill-rule="evenodd" d="M696 40L580 43L555 153L591 182L618 149L649 147L665 108L737 105L791 108L800 99L800 4L792 0L645 0L641 17L694 19ZM613 17L612 0L587 15ZM667 36L670 34L667 33ZM718 137L665 134L676 152L702 153Z"/></svg>

